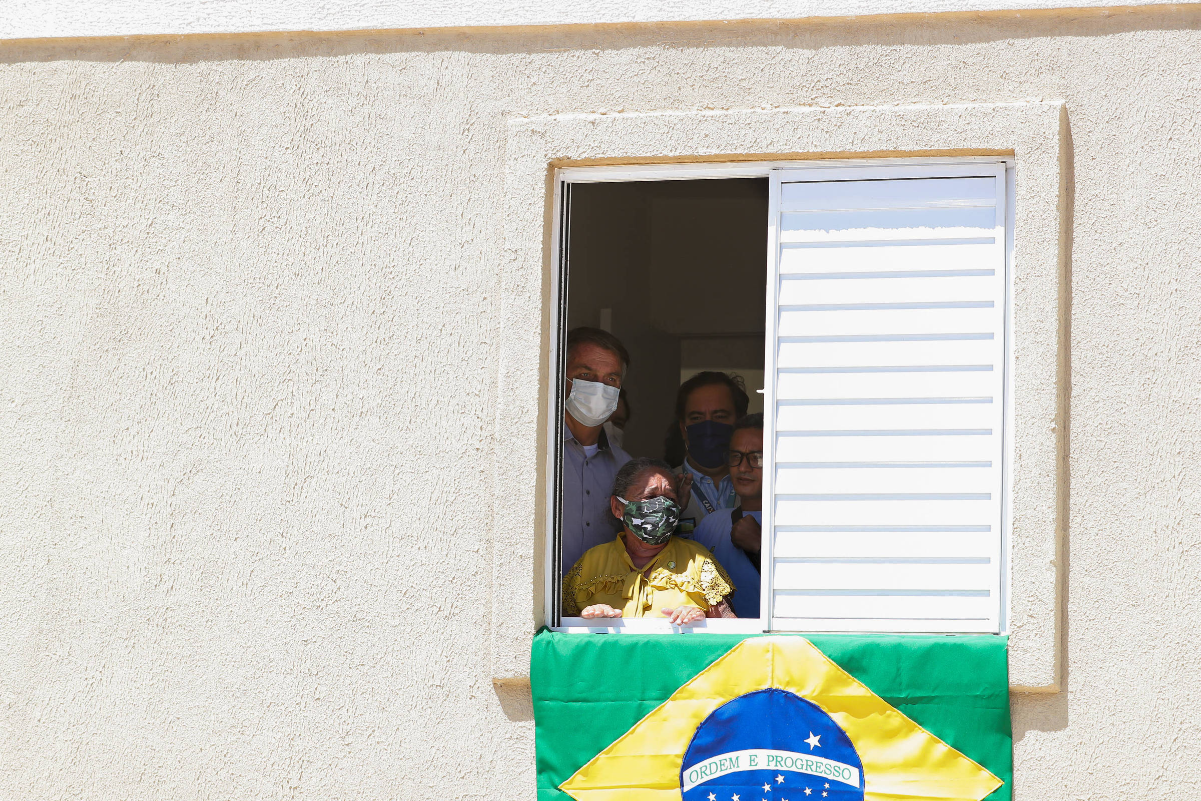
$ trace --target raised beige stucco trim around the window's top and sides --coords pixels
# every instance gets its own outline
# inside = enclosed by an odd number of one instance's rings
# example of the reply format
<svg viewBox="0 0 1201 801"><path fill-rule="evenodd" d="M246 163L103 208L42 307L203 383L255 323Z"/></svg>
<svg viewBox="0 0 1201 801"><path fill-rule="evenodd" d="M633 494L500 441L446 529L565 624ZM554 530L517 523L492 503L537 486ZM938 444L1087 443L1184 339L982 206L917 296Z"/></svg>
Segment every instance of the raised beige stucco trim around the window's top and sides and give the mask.
<svg viewBox="0 0 1201 801"><path fill-rule="evenodd" d="M516 118L506 142L504 262L492 509L491 665L528 676L544 620L546 414L557 167L992 155L1014 179L1010 686L1056 692L1070 163L1062 102L782 108ZM500 521L503 520L503 524Z"/></svg>

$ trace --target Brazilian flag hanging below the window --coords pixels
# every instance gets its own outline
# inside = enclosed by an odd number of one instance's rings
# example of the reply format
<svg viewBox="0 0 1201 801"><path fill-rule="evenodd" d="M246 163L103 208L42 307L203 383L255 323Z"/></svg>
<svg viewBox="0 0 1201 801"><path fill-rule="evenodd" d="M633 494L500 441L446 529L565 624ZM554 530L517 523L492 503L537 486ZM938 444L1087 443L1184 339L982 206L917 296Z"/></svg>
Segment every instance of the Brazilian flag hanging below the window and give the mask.
<svg viewBox="0 0 1201 801"><path fill-rule="evenodd" d="M1006 638L533 641L539 801L1010 801Z"/></svg>

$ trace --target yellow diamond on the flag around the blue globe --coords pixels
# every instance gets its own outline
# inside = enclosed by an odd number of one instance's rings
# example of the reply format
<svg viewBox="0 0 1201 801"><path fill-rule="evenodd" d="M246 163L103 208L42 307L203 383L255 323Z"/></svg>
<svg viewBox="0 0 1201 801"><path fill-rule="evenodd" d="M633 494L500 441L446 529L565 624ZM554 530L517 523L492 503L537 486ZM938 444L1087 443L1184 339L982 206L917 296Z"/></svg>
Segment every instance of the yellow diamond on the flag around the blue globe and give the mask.
<svg viewBox="0 0 1201 801"><path fill-rule="evenodd" d="M764 691L785 691L777 695L803 699L795 703L812 704L841 731L807 731L808 739L805 731L794 735L808 743L808 752L803 746L799 752L730 746L724 753L689 763L682 789L681 769L699 737L698 729L730 701ZM770 721L758 723L767 725ZM849 740L846 753L858 757L861 772L847 759L820 755L823 736L829 742L843 735ZM717 737L721 742L724 734ZM743 640L713 662L560 789L576 801L680 801L686 790L704 788L710 778L748 771L751 765L755 770L778 767L779 782L785 775L802 777L817 790L802 796L805 801L823 801L826 793L837 794L847 785L861 788L864 801L981 801L1002 785L999 778L910 721L805 638L764 636ZM765 785L764 794L770 791Z"/></svg>

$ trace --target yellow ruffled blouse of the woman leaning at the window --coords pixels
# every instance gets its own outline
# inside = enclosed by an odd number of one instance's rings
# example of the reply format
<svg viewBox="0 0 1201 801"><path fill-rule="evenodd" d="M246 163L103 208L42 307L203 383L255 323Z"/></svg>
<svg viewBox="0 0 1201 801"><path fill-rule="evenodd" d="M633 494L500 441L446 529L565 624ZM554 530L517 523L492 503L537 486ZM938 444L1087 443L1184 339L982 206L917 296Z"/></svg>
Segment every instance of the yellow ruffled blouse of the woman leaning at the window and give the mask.
<svg viewBox="0 0 1201 801"><path fill-rule="evenodd" d="M709 611L734 592L734 582L704 545L673 537L641 570L634 567L626 532L591 548L563 578L563 615L578 617L592 604L608 604L622 617L662 617L685 604Z"/></svg>

